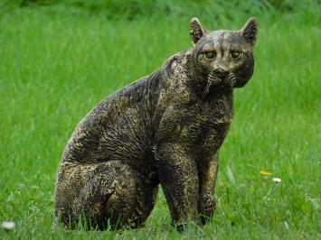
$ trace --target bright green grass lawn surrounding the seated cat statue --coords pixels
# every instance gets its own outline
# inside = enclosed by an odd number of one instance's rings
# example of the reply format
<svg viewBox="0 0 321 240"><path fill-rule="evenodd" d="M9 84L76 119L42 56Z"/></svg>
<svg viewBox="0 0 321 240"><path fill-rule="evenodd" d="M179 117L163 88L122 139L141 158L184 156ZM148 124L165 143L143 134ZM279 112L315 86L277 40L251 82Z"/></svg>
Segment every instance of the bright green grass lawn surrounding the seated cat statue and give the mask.
<svg viewBox="0 0 321 240"><path fill-rule="evenodd" d="M320 4L226 2L0 3L0 221L16 223L0 238L320 238ZM141 229L51 231L55 172L80 119L189 48L193 16L213 30L239 29L251 15L256 69L235 91L212 222L178 234L160 192Z"/></svg>

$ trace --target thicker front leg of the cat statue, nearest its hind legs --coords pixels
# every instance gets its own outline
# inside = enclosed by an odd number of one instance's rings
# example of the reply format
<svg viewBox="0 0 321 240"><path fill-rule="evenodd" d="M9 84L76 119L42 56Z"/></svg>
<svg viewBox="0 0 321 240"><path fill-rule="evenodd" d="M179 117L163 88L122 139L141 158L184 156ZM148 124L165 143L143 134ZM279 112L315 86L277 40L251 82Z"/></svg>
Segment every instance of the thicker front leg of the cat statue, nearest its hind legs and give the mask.
<svg viewBox="0 0 321 240"><path fill-rule="evenodd" d="M188 222L200 225L198 172L191 153L182 144L163 143L156 151L156 161L173 223L179 228Z"/></svg>

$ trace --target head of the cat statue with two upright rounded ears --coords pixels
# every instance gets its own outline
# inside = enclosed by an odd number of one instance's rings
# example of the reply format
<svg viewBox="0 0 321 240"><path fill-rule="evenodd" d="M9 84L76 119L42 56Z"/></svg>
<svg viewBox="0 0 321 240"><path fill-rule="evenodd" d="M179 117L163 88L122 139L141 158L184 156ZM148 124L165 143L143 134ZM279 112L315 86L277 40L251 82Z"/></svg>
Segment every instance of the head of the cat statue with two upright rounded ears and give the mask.
<svg viewBox="0 0 321 240"><path fill-rule="evenodd" d="M206 31L197 18L190 24L193 71L198 81L210 87L241 88L254 69L253 47L257 39L257 21L250 18L240 31ZM204 83L205 82L205 83Z"/></svg>

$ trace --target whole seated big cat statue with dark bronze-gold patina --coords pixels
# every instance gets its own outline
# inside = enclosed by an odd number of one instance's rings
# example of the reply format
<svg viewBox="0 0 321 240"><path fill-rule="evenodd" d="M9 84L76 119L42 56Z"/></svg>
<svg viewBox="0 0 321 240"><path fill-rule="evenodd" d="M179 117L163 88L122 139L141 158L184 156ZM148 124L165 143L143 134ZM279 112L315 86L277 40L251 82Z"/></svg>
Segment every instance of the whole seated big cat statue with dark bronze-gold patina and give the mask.
<svg viewBox="0 0 321 240"><path fill-rule="evenodd" d="M137 227L158 185L173 223L212 217L218 152L231 124L233 88L250 79L254 18L240 31L205 31L192 19L194 47L107 97L67 144L55 187L55 216L105 229Z"/></svg>

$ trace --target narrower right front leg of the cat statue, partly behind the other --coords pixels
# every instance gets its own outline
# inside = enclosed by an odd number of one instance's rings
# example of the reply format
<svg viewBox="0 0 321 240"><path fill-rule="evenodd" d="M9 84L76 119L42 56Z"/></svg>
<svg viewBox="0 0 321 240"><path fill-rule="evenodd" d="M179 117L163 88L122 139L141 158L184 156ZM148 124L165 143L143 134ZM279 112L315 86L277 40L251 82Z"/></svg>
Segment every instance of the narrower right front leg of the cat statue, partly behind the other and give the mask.
<svg viewBox="0 0 321 240"><path fill-rule="evenodd" d="M216 200L214 198L214 190L217 179L217 171L219 160L217 153L214 154L208 161L203 162L200 166L200 196L198 203L198 211L202 217L202 222L205 224L212 218L213 211L216 208Z"/></svg>

